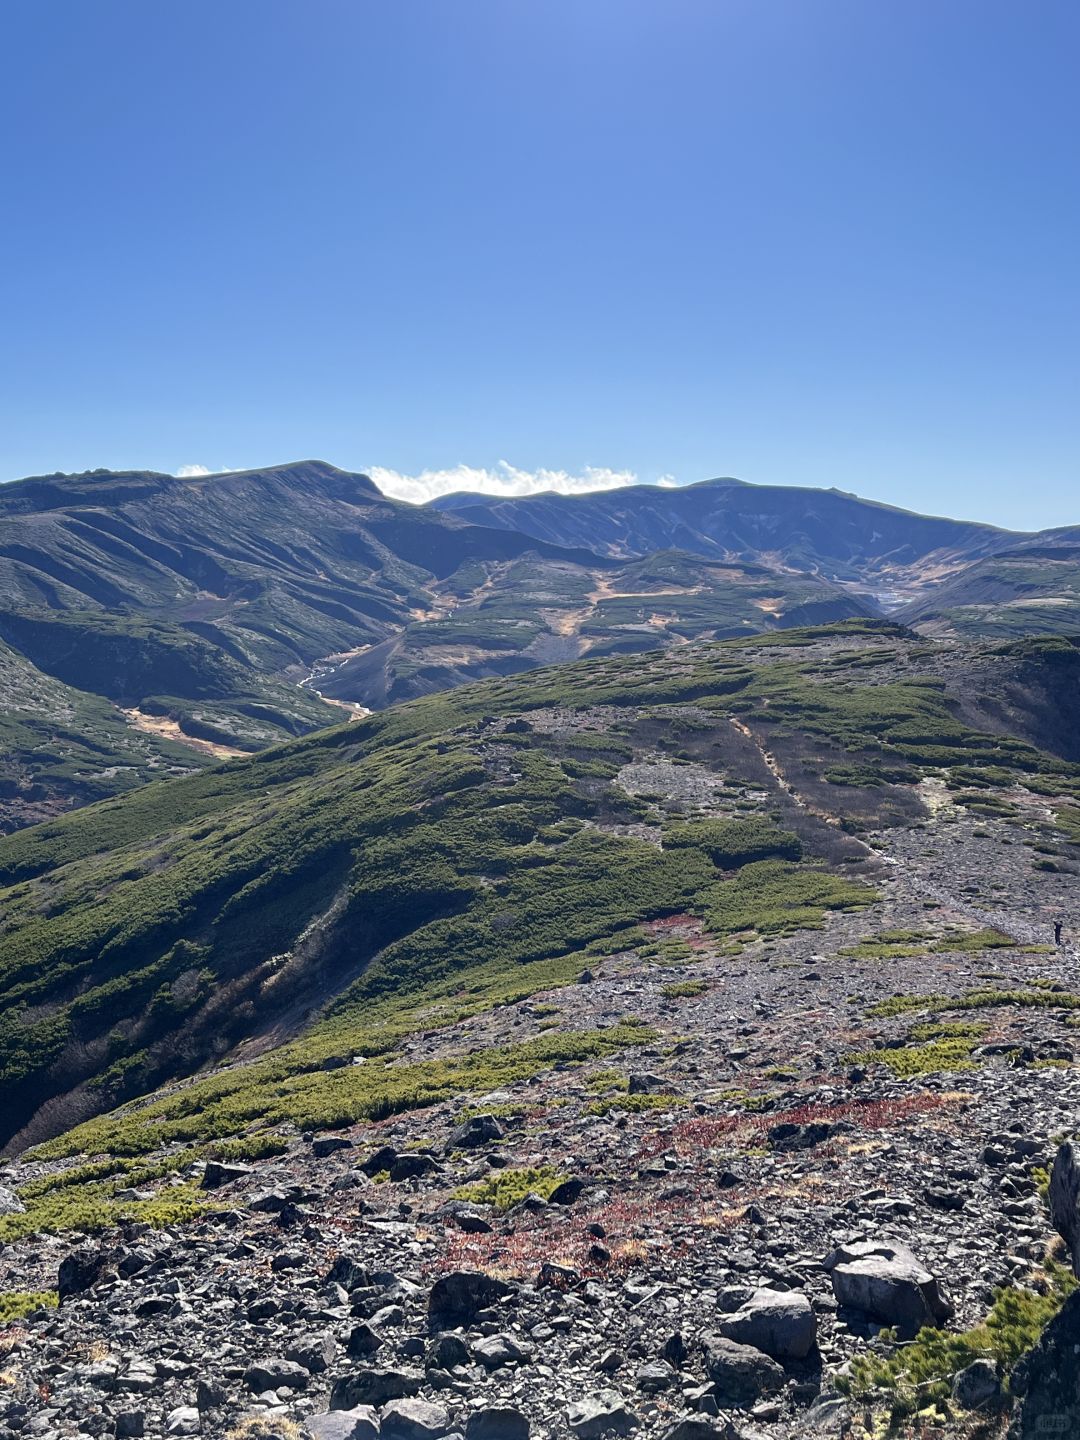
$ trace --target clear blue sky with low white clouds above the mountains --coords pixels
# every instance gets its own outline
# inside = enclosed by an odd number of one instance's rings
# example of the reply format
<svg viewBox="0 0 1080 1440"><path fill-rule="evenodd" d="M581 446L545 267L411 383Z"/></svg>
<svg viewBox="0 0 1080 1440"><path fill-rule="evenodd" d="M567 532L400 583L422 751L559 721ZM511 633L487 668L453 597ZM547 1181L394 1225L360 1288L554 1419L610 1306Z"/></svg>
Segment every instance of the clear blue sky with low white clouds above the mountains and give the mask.
<svg viewBox="0 0 1080 1440"><path fill-rule="evenodd" d="M1079 52L1076 0L7 0L0 478L1080 523Z"/></svg>

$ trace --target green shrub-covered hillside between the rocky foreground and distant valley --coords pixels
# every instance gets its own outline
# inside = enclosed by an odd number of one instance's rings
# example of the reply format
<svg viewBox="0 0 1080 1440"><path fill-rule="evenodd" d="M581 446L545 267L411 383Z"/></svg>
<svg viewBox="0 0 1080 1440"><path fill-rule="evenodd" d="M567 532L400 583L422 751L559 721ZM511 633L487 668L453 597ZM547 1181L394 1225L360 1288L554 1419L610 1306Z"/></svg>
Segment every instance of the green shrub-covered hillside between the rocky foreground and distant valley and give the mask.
<svg viewBox="0 0 1080 1440"><path fill-rule="evenodd" d="M867 904L857 835L917 819L920 776L960 789L982 770L1080 796L1080 770L1031 743L1038 714L1024 739L975 729L958 703L976 684L1001 698L1032 667L1076 685L1080 652L1028 642L985 661L873 624L583 661L9 837L4 1139L301 1032L135 1130L334 1123L383 1090L327 1066L393 1048L418 1007L432 1024L426 1007L550 984L665 914L737 946Z"/></svg>

